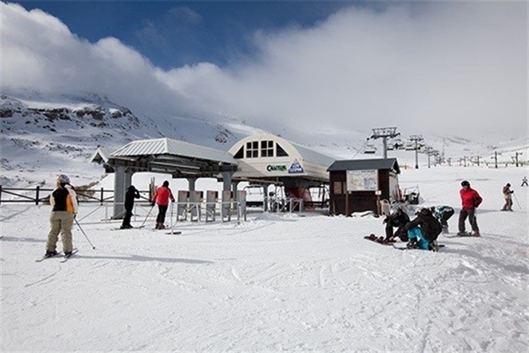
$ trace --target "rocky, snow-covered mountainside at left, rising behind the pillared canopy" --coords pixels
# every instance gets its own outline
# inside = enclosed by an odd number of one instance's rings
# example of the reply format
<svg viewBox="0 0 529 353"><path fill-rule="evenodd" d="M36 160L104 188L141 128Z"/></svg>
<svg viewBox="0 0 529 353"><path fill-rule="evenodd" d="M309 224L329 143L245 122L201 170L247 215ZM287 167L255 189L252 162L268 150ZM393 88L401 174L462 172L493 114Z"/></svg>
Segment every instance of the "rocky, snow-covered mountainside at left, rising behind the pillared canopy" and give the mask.
<svg viewBox="0 0 529 353"><path fill-rule="evenodd" d="M256 131L236 121L136 114L95 94L31 92L1 99L3 186L44 185L59 172L93 182L102 169L87 166L87 160L99 146L112 150L137 139L169 137L227 150Z"/></svg>

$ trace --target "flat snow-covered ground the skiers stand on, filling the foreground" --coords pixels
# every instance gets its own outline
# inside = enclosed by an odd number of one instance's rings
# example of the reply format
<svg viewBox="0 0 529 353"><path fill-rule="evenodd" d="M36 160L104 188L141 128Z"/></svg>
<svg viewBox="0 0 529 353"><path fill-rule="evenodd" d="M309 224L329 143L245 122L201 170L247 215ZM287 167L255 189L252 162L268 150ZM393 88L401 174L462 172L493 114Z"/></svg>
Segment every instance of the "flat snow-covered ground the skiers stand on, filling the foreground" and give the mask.
<svg viewBox="0 0 529 353"><path fill-rule="evenodd" d="M171 235L151 230L153 218L112 231L119 223L101 221L104 207L81 204L96 250L76 229L78 254L36 263L49 206L3 204L0 351L527 352L523 175L403 170L401 186L418 185L422 205L458 212L462 179L484 197L482 237L441 235L439 253L363 240L382 234L380 218L250 213L246 222L182 222ZM507 182L515 212L499 212Z"/></svg>

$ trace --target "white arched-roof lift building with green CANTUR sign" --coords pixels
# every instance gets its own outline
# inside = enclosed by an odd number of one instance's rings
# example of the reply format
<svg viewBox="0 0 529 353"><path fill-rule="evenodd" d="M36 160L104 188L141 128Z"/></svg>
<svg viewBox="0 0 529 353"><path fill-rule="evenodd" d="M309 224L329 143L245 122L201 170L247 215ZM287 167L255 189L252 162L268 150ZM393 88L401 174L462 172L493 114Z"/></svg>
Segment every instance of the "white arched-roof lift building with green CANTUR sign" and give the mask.
<svg viewBox="0 0 529 353"><path fill-rule="evenodd" d="M276 135L254 134L236 142L229 153L238 162L233 180L254 185L282 185L287 196L312 201L309 188L329 184L327 168L335 158Z"/></svg>

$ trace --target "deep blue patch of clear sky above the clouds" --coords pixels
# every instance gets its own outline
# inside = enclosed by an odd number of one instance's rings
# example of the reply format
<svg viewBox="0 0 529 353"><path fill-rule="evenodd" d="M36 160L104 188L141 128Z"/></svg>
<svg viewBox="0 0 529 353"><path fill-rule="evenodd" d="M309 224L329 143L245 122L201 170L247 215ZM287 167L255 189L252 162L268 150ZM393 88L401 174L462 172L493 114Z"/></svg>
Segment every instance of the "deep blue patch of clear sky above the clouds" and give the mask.
<svg viewBox="0 0 529 353"><path fill-rule="evenodd" d="M244 57L253 58L257 48L251 36L255 31L307 28L352 5L345 1L20 3L28 10L40 8L58 17L70 31L91 42L116 37L164 69L202 61L225 66Z"/></svg>

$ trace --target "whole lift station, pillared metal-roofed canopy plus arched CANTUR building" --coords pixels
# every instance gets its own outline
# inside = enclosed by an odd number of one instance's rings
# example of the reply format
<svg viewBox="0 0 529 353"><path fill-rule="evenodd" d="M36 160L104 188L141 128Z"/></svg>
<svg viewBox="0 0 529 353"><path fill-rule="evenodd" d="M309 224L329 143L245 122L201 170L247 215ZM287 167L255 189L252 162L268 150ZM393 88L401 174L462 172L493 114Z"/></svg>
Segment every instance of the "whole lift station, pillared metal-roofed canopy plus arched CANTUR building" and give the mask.
<svg viewBox="0 0 529 353"><path fill-rule="evenodd" d="M236 142L230 151L221 151L168 138L138 140L112 153L98 148L93 162L114 173L114 216L122 214L125 190L132 174L154 171L187 178L189 191L202 177L222 179L223 190L236 195L238 183L282 185L290 197L312 201L311 187L329 184L327 168L334 158L299 146L272 134L256 134Z"/></svg>

